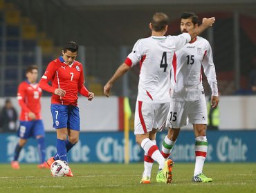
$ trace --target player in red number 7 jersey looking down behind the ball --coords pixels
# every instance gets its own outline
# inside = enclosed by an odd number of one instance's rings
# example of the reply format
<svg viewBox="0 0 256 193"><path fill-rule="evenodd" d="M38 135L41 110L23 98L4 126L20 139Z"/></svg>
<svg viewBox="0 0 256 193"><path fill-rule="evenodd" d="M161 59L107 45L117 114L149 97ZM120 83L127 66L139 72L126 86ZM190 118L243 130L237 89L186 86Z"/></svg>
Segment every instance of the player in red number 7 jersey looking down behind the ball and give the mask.
<svg viewBox="0 0 256 193"><path fill-rule="evenodd" d="M51 61L39 82L39 87L51 92L51 113L53 128L57 132L57 153L48 159L50 166L55 160L68 161L66 153L73 148L79 140L80 116L77 107L77 93L86 96L89 101L94 97L84 87L84 72L82 64L75 61L78 45L70 41L62 50L62 56ZM52 85L48 82L51 81ZM67 139L68 137L68 139ZM73 177L71 170L66 176Z"/></svg>

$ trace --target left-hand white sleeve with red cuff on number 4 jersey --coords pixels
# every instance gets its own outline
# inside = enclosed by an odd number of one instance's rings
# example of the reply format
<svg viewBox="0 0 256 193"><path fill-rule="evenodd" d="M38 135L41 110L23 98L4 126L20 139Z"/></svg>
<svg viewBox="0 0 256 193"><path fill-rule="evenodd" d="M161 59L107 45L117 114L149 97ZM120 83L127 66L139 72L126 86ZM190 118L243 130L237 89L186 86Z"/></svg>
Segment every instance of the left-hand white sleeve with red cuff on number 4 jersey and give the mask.
<svg viewBox="0 0 256 193"><path fill-rule="evenodd" d="M141 46L142 41L139 39L135 44L134 48L132 48L131 53L129 53L127 59L125 60L125 63L127 65L134 66L137 63L139 63L140 59L143 57L143 48Z"/></svg>

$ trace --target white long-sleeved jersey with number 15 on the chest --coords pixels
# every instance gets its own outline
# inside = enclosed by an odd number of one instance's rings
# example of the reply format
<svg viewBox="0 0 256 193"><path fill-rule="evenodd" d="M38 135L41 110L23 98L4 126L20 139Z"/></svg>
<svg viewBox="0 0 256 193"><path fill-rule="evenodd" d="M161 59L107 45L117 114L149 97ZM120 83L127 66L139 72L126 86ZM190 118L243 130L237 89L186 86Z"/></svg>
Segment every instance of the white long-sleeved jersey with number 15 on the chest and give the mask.
<svg viewBox="0 0 256 193"><path fill-rule="evenodd" d="M217 79L210 43L202 38L187 43L174 54L172 61L172 101L196 101L204 94L202 72L213 96L218 96Z"/></svg>

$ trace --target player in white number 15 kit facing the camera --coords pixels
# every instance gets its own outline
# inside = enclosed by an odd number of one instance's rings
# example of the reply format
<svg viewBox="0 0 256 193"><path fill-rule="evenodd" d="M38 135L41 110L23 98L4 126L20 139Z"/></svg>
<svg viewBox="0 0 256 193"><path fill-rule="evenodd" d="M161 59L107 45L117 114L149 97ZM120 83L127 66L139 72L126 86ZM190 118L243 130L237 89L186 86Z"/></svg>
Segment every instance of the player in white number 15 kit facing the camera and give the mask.
<svg viewBox="0 0 256 193"><path fill-rule="evenodd" d="M192 12L181 15L181 32L187 33L198 28L198 17ZM176 51L172 61L172 97L167 117L168 134L162 144L162 154L167 159L179 135L181 127L192 123L195 135L194 182L211 182L203 174L203 164L208 150L206 125L208 123L202 72L212 90L211 105L219 103L217 79L210 43L202 37L194 37L181 50Z"/></svg>

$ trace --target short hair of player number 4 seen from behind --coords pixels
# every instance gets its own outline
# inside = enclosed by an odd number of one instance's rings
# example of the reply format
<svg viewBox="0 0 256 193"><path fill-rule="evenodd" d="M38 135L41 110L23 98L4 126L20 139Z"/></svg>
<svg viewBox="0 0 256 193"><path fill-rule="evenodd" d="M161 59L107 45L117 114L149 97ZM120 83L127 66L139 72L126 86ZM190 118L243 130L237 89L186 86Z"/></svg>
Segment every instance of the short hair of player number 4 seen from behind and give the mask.
<svg viewBox="0 0 256 193"><path fill-rule="evenodd" d="M152 28L156 32L165 30L169 23L169 17L163 12L156 12L152 18Z"/></svg>

